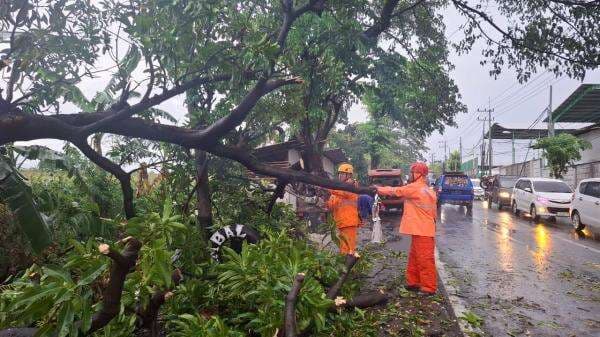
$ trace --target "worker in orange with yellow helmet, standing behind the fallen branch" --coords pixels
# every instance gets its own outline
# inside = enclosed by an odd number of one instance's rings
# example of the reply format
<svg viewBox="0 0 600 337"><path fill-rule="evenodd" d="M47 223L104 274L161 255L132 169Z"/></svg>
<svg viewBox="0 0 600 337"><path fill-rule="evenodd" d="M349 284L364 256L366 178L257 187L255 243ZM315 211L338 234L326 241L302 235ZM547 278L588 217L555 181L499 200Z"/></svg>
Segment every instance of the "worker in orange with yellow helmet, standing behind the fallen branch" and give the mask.
<svg viewBox="0 0 600 337"><path fill-rule="evenodd" d="M348 184L356 184L352 176L354 168L350 164L341 164L338 178ZM353 254L356 251L356 234L361 224L358 216L358 195L352 192L329 190L327 208L333 213L333 220L338 229L340 253Z"/></svg>

